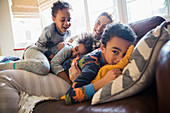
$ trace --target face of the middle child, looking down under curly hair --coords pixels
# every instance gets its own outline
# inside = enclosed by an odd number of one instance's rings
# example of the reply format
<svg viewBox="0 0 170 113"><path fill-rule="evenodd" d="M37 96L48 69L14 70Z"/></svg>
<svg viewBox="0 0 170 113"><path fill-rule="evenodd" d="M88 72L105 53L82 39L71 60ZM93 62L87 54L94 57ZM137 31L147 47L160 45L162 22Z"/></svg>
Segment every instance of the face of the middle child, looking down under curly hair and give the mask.
<svg viewBox="0 0 170 113"><path fill-rule="evenodd" d="M84 55L84 54L86 54L86 48L85 48L84 44L79 44L72 49L71 57L75 58L77 56Z"/></svg>

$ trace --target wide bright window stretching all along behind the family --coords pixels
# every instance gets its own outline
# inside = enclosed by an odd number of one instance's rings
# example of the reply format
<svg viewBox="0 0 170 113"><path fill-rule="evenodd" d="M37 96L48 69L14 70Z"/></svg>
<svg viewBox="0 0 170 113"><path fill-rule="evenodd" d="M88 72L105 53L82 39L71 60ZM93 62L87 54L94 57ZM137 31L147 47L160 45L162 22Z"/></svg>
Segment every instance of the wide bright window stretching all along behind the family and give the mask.
<svg viewBox="0 0 170 113"><path fill-rule="evenodd" d="M33 0L34 3L36 0ZM38 0L39 1L39 0ZM49 3L56 0L48 0ZM92 32L95 20L104 11L113 13L122 23L131 23L151 16L170 19L170 0L65 0L73 8L72 36ZM33 3L32 3L33 4ZM13 18L15 46L25 47L35 43L42 29L52 23L51 7L40 11L39 18ZM37 10L37 9L36 9ZM35 14L37 13L35 10ZM32 16L33 17L33 16Z"/></svg>

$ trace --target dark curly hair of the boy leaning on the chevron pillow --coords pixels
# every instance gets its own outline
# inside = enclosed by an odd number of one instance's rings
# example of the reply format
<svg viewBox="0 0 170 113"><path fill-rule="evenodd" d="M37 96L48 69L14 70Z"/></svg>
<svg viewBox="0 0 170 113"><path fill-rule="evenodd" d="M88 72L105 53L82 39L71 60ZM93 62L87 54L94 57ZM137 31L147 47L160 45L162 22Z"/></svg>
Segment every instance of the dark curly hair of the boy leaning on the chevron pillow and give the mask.
<svg viewBox="0 0 170 113"><path fill-rule="evenodd" d="M112 37L115 36L130 41L132 43L134 43L136 40L136 34L128 25L121 24L121 23L114 24L112 22L106 27L102 35L102 40L101 40L102 44L104 44L104 46L106 47L107 42Z"/></svg>

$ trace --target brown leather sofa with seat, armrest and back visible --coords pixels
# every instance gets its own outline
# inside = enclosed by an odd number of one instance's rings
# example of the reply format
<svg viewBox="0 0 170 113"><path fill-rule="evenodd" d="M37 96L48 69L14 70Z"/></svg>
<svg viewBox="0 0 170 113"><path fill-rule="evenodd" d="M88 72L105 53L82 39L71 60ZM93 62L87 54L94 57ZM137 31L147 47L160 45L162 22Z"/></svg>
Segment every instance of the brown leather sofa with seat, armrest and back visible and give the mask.
<svg viewBox="0 0 170 113"><path fill-rule="evenodd" d="M129 24L141 39L149 30L165 21L154 16ZM144 91L114 102L90 105L90 101L66 105L61 101L43 101L38 103L33 113L170 113L170 41L161 49L157 59L155 80Z"/></svg>

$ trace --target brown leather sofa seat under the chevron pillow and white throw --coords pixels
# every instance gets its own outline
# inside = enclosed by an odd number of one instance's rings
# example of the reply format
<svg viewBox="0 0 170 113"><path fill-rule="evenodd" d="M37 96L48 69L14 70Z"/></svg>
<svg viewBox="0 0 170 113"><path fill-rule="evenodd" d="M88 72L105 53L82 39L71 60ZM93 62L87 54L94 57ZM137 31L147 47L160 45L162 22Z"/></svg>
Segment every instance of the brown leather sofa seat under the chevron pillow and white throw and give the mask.
<svg viewBox="0 0 170 113"><path fill-rule="evenodd" d="M91 106L90 101L66 105L64 100L38 103L33 113L157 113L156 88L153 83L131 98Z"/></svg>

